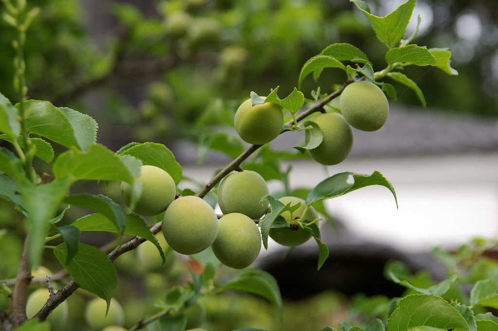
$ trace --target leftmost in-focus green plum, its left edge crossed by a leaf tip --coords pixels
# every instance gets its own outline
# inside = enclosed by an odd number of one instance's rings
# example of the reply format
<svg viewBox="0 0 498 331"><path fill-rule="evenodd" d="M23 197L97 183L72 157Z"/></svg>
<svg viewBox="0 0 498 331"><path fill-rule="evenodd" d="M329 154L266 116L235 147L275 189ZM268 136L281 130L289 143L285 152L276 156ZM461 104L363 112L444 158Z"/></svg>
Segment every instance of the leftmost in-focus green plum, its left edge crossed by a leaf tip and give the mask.
<svg viewBox="0 0 498 331"><path fill-rule="evenodd" d="M175 181L166 171L158 167L144 165L140 167L140 171L140 177L136 180L142 184L142 194L133 212L145 216L153 216L164 212L175 199ZM123 182L121 193L124 201L129 206L132 195L131 185Z"/></svg>

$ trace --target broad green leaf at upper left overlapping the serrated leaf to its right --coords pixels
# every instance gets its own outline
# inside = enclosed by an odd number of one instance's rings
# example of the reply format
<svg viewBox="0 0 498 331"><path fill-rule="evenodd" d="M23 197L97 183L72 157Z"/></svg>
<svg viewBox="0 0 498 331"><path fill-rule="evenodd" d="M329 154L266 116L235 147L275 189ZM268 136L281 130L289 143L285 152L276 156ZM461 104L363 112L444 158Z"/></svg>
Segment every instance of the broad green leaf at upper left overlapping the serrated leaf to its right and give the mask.
<svg viewBox="0 0 498 331"><path fill-rule="evenodd" d="M66 147L75 146L80 148L71 122L54 105L48 101L28 100L25 107L28 131L44 136Z"/></svg>

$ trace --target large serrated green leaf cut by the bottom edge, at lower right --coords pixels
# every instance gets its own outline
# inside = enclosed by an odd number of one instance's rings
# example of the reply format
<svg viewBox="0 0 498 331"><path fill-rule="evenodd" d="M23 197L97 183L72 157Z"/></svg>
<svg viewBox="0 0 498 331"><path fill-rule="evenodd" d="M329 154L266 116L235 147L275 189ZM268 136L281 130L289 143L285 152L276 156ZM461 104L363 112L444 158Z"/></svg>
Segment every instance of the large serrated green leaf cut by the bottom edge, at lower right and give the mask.
<svg viewBox="0 0 498 331"><path fill-rule="evenodd" d="M387 322L388 331L408 331L416 327L469 330L457 309L435 295L413 294L402 298Z"/></svg>

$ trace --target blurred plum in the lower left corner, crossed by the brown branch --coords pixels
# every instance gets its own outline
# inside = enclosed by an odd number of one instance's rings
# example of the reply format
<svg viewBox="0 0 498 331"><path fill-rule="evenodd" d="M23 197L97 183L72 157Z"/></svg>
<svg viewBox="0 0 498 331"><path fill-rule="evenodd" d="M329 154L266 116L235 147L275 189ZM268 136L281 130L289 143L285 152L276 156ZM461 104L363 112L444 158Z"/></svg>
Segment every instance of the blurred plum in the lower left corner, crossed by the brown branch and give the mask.
<svg viewBox="0 0 498 331"><path fill-rule="evenodd" d="M48 289L37 289L31 293L26 302L26 316L28 319L38 313L38 311L45 305L48 298L50 297L50 292ZM47 321L50 322L53 330L61 330L64 328L67 322L67 316L69 313L67 302L61 303L54 311L48 316Z"/></svg>

